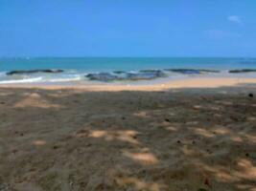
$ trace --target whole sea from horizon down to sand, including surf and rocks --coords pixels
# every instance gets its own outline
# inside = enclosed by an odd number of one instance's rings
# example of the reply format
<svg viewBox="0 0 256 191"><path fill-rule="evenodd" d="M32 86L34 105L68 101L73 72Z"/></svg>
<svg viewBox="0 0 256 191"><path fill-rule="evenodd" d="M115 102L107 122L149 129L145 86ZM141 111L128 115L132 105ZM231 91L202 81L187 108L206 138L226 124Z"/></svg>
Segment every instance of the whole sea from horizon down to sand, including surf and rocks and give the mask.
<svg viewBox="0 0 256 191"><path fill-rule="evenodd" d="M174 70L178 69L178 70ZM185 70L186 69L186 70ZM256 70L256 58L221 57L15 57L0 58L0 84L139 81ZM53 71L41 71L53 70ZM59 70L56 73L56 70ZM61 72L60 72L61 70ZM185 71L184 71L185 70ZM212 70L218 71L211 73ZM10 72L19 72L12 73ZM232 75L256 77L250 73ZM100 74L100 75L99 75Z"/></svg>

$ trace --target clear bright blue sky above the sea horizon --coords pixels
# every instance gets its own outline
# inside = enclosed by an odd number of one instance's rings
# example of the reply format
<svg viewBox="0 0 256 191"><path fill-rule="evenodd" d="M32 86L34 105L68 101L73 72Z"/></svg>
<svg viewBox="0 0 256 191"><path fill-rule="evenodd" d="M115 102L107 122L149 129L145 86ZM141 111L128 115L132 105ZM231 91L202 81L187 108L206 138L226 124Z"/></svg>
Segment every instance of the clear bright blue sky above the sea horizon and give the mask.
<svg viewBox="0 0 256 191"><path fill-rule="evenodd" d="M0 0L0 56L256 56L256 1Z"/></svg>

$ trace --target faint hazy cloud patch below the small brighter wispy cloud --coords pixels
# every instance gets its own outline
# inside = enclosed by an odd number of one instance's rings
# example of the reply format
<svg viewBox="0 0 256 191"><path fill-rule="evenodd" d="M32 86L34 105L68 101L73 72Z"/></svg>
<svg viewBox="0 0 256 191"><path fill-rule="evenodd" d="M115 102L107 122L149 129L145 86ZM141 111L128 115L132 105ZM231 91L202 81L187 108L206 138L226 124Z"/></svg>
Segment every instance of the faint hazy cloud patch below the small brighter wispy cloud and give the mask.
<svg viewBox="0 0 256 191"><path fill-rule="evenodd" d="M222 30L207 30L205 31L206 35L212 38L238 38L242 35L237 32L228 32Z"/></svg>

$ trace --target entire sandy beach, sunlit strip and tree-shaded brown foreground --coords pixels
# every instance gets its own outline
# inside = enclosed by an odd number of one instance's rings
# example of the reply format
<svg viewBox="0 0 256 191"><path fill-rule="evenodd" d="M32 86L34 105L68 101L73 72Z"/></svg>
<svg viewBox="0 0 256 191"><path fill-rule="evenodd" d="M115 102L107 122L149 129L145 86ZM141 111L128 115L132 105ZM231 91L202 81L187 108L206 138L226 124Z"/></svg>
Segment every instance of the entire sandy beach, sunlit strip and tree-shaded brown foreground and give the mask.
<svg viewBox="0 0 256 191"><path fill-rule="evenodd" d="M0 86L0 190L256 191L256 79Z"/></svg>

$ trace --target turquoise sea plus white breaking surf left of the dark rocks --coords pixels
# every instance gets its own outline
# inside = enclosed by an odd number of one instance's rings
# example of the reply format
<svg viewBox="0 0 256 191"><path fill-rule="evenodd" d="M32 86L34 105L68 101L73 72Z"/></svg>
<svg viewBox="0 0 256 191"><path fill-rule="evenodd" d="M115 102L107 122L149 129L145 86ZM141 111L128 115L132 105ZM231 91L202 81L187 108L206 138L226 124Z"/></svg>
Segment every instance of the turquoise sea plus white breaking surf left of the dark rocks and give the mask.
<svg viewBox="0 0 256 191"><path fill-rule="evenodd" d="M61 69L61 74L7 75L16 70ZM90 73L164 69L256 69L256 58L221 57L19 57L0 58L0 83L83 81ZM169 74L175 75L175 74Z"/></svg>

